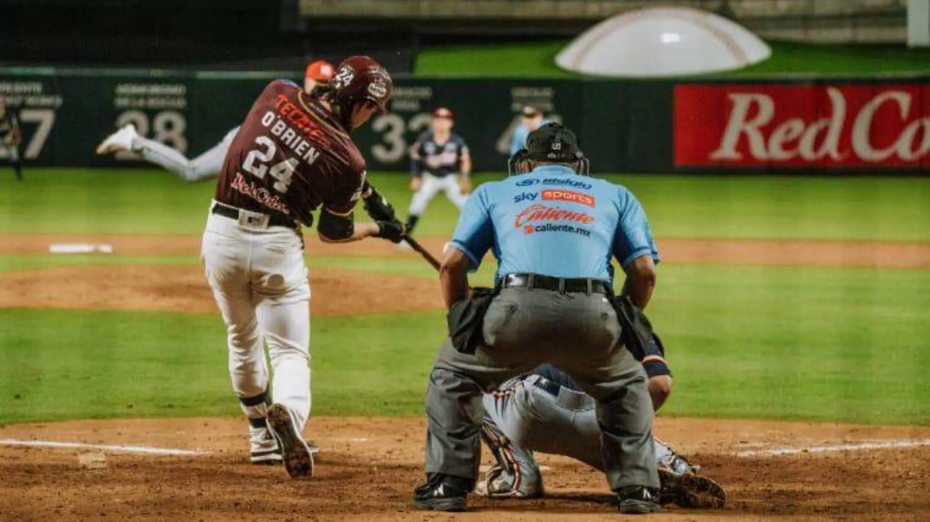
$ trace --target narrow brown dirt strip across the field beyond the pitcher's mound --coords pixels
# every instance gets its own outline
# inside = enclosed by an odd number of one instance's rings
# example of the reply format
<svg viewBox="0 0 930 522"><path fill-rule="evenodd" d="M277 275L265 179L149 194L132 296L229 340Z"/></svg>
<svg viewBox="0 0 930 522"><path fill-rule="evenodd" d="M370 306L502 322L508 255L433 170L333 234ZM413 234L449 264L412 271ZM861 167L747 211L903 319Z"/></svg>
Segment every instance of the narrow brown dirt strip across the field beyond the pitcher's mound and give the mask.
<svg viewBox="0 0 930 522"><path fill-rule="evenodd" d="M445 240L421 241L433 254L442 253ZM0 234L0 255L47 254L52 243L106 243L117 255L198 255L198 236L53 236ZM309 236L311 255L417 257L387 241L326 244ZM724 265L930 268L930 243L897 241L782 241L660 239L666 263Z"/></svg>

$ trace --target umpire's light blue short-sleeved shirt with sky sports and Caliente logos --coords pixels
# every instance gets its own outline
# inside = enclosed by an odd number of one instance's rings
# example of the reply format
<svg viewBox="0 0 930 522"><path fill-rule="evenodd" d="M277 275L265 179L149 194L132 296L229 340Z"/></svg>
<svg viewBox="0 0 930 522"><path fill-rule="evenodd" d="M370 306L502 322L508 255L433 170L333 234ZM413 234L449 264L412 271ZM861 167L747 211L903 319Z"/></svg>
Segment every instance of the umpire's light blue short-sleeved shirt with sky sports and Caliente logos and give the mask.
<svg viewBox="0 0 930 522"><path fill-rule="evenodd" d="M479 187L451 242L471 259L472 271L491 250L498 259L495 280L532 273L613 283L611 257L624 268L643 255L659 260L643 206L630 190L557 164Z"/></svg>

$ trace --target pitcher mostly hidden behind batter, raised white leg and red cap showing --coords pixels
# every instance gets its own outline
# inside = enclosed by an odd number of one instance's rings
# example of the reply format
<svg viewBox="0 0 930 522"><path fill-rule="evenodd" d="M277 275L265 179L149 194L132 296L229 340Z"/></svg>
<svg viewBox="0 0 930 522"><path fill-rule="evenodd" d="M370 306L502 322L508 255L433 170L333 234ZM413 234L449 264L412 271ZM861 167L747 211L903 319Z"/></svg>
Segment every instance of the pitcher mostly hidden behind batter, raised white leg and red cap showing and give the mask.
<svg viewBox="0 0 930 522"><path fill-rule="evenodd" d="M312 62L307 66L304 73L304 92L310 94L320 82L332 80L333 71L333 65L328 61L321 59ZM172 149L154 139L139 136L136 126L127 124L104 139L97 147L97 153L110 154L112 152L131 150L140 154L147 162L160 165L181 176L185 181L200 181L206 177L219 175L219 170L223 166L223 159L226 158L226 152L230 150L230 145L233 143L233 138L238 131L239 127L233 128L226 133L226 136L218 144L193 160L189 160L179 150Z"/></svg>

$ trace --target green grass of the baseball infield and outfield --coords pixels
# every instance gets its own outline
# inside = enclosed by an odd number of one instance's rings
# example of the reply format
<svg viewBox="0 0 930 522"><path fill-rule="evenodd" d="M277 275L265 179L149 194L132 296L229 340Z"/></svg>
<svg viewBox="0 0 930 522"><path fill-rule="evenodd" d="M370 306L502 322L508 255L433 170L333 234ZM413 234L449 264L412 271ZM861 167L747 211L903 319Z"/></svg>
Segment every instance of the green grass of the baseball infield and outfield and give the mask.
<svg viewBox="0 0 930 522"><path fill-rule="evenodd" d="M2 233L198 234L213 191L155 170L27 176L0 176ZM405 176L372 178L405 207ZM612 178L640 197L660 238L930 241L930 179ZM437 200L421 233L445 236L455 217ZM434 278L416 257L308 261ZM198 260L7 254L0 274L125 263ZM663 414L930 424L927 288L918 269L665 265L650 307L676 372ZM440 310L314 318L314 414L420 414L444 329ZM0 423L237 412L217 317L0 308Z"/></svg>

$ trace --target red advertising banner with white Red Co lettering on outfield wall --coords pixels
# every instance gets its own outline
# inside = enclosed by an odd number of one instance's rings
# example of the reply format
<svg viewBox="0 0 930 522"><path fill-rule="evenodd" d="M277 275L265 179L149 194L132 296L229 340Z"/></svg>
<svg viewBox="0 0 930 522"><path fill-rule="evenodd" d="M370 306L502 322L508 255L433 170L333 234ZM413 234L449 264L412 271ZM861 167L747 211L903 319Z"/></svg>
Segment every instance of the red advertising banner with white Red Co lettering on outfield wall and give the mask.
<svg viewBox="0 0 930 522"><path fill-rule="evenodd" d="M676 166L930 167L930 84L677 85Z"/></svg>

